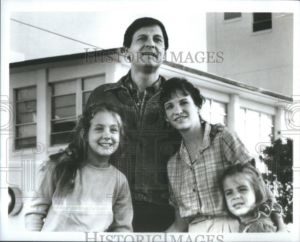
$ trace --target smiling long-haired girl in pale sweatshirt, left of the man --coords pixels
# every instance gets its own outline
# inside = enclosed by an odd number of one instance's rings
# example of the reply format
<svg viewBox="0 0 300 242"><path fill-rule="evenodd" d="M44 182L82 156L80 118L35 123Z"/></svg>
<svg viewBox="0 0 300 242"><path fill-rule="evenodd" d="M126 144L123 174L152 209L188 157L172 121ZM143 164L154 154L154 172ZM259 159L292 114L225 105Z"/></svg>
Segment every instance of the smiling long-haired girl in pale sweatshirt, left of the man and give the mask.
<svg viewBox="0 0 300 242"><path fill-rule="evenodd" d="M91 105L75 127L78 158L55 154L42 166L43 179L25 215L28 231L132 232L127 179L110 165L124 134L109 104Z"/></svg>

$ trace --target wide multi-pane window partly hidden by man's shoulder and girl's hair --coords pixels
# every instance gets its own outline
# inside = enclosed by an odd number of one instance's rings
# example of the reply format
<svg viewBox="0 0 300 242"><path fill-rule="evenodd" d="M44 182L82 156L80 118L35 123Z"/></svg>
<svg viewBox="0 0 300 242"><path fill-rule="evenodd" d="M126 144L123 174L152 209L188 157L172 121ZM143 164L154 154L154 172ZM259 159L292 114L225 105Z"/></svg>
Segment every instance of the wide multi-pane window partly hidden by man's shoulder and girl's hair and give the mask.
<svg viewBox="0 0 300 242"><path fill-rule="evenodd" d="M105 83L105 75L52 83L51 145L73 140L72 130L91 91Z"/></svg>

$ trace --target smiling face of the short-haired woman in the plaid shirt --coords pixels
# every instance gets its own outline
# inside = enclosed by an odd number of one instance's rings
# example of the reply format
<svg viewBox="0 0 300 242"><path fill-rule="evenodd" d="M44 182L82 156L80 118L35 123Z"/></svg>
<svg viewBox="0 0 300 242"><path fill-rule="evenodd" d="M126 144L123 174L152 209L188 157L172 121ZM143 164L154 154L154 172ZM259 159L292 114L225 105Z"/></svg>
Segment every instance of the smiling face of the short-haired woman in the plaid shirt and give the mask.
<svg viewBox="0 0 300 242"><path fill-rule="evenodd" d="M190 130L200 123L200 108L195 105L190 95L184 96L177 92L164 104L166 120L179 131Z"/></svg>

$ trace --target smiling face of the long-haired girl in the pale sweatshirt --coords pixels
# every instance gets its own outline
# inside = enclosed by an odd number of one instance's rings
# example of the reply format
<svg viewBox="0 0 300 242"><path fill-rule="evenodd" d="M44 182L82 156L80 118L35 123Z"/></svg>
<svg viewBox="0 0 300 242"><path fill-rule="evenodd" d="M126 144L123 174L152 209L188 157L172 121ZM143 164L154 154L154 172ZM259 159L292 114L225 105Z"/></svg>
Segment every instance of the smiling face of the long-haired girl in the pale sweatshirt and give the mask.
<svg viewBox="0 0 300 242"><path fill-rule="evenodd" d="M109 112L98 112L88 130L88 156L101 158L113 153L112 146L119 146L120 129L116 118Z"/></svg>

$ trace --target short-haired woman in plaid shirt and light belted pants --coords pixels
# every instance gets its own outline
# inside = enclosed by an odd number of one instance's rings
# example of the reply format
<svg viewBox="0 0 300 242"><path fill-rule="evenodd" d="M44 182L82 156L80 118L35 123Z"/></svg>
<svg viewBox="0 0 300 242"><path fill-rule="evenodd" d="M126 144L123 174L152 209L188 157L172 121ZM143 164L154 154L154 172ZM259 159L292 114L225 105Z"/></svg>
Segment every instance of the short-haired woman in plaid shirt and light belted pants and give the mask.
<svg viewBox="0 0 300 242"><path fill-rule="evenodd" d="M165 118L183 138L168 163L170 204L176 208L168 231L238 232L238 221L223 204L220 178L226 167L248 165L253 157L233 130L210 136L210 125L200 116L205 99L186 79L171 78L162 89L163 100L168 100ZM278 225L284 226L282 219Z"/></svg>

